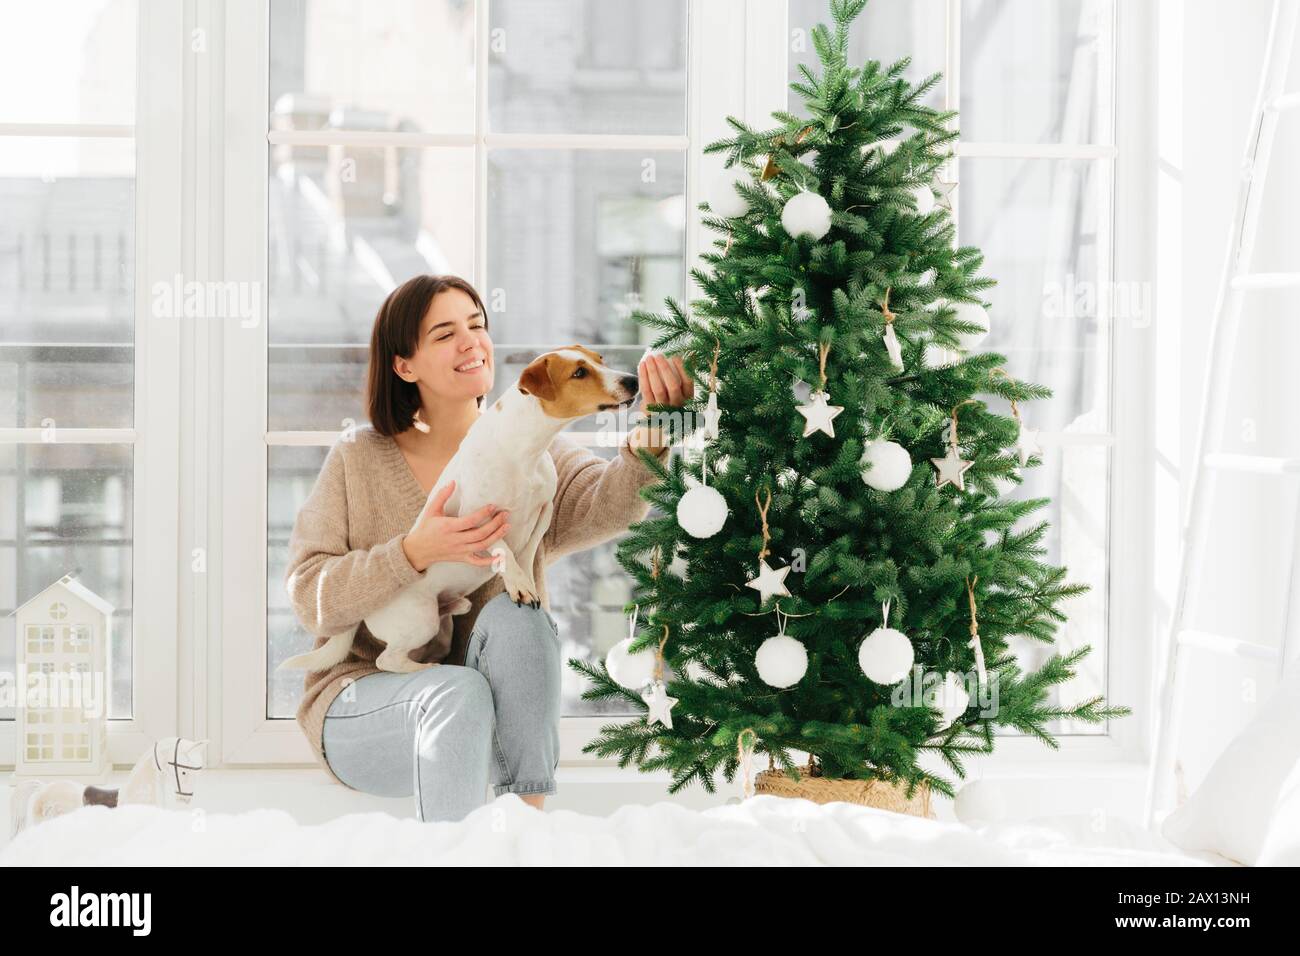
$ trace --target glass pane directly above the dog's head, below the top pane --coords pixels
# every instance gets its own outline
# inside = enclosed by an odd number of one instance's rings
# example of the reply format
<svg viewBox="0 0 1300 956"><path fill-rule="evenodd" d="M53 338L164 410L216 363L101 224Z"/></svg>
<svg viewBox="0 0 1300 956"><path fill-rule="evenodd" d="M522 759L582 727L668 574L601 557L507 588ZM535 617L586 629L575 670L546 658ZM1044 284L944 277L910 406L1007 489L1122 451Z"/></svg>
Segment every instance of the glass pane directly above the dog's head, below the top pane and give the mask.
<svg viewBox="0 0 1300 956"><path fill-rule="evenodd" d="M493 150L488 163L493 341L650 341L630 310L684 299L685 153Z"/></svg>

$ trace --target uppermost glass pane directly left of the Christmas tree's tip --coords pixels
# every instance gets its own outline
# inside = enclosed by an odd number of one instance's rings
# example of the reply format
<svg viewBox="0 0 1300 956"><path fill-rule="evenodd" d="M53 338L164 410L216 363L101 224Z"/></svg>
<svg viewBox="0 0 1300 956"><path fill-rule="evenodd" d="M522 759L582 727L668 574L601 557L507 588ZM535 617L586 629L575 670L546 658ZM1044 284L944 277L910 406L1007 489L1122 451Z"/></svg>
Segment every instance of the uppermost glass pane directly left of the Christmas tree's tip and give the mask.
<svg viewBox="0 0 1300 956"><path fill-rule="evenodd" d="M493 133L686 131L686 0L493 0Z"/></svg>

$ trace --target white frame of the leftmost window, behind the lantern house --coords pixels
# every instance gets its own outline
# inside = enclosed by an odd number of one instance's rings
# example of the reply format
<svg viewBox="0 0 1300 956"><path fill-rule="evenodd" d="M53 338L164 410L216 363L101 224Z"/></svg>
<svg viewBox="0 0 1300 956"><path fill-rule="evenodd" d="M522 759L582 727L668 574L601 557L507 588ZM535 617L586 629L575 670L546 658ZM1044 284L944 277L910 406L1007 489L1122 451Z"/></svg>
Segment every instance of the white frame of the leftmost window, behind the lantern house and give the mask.
<svg viewBox="0 0 1300 956"><path fill-rule="evenodd" d="M177 566L179 505L181 320L152 315L152 286L182 272L181 5L139 0L135 122L4 124L4 137L135 139L134 428L3 428L0 444L130 445L134 450L131 540L131 710L109 719L108 753L131 765L157 737L176 734L177 610L187 570ZM23 520L18 515L18 520ZM21 555L20 555L21 558ZM23 596L18 596L20 600ZM17 721L0 721L0 765L13 766Z"/></svg>

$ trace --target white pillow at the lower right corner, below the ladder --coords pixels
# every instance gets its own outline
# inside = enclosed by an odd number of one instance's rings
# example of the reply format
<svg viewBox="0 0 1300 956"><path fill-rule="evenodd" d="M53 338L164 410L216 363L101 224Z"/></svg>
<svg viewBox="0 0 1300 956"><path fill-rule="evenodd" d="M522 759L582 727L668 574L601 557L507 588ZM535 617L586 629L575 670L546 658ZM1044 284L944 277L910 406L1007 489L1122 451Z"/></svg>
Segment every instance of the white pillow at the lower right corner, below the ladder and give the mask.
<svg viewBox="0 0 1300 956"><path fill-rule="evenodd" d="M1186 851L1210 851L1247 866L1260 862L1270 825L1279 840L1300 825L1288 822L1300 799L1294 783L1300 765L1300 667L1214 761L1201 786L1161 827ZM1287 788L1290 787L1290 793ZM1300 849L1300 848L1297 848ZM1268 845L1268 858L1284 848Z"/></svg>

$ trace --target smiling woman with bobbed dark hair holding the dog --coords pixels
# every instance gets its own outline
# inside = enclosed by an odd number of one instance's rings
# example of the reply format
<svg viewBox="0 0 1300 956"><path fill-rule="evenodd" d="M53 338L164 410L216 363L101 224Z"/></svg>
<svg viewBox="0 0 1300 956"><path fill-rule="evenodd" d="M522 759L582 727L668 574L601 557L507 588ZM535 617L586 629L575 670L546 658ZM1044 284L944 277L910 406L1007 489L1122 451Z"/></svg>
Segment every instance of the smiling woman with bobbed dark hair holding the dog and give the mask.
<svg viewBox="0 0 1300 956"><path fill-rule="evenodd" d="M478 418L495 365L488 311L455 276L417 276L380 307L370 336L370 425L330 449L289 540L285 585L320 646L438 561L489 564L485 551L510 515L485 507L447 516L438 476ZM694 393L681 359L647 354L637 368L642 411L680 406ZM325 771L354 790L416 799L420 819L460 819L493 792L541 808L559 762L560 643L543 567L607 541L649 511L638 494L654 481L636 447L668 449L641 425L604 460L560 434L547 454L558 483L534 579L542 607L516 605L500 575L468 597L415 657L441 666L380 671L384 649L356 631L348 658L307 675L296 719ZM419 524L416 524L419 519Z"/></svg>

